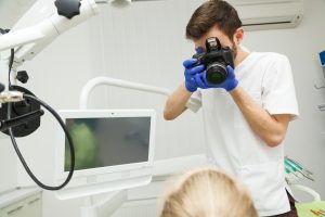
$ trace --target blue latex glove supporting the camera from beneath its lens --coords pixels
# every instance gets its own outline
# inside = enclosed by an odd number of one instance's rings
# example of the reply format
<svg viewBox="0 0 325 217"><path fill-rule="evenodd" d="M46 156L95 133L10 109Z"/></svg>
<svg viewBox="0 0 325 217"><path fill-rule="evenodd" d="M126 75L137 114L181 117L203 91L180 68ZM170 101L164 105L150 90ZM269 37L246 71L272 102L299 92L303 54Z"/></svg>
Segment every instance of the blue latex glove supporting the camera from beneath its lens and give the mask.
<svg viewBox="0 0 325 217"><path fill-rule="evenodd" d="M206 78L206 71L204 71L203 73L200 74L196 74L195 75L195 81L196 81L196 85L202 88L202 89L208 89L208 88L223 88L225 89L226 91L231 91L233 89L235 89L238 85L238 80L236 79L235 77L235 72L234 69L232 68L232 66L227 65L226 66L226 71L227 71L227 76L226 76L226 79L219 84L219 85L213 85L213 84L210 84L207 78Z"/></svg>

